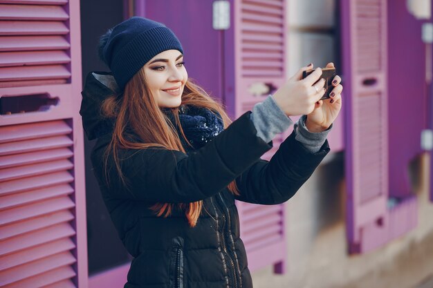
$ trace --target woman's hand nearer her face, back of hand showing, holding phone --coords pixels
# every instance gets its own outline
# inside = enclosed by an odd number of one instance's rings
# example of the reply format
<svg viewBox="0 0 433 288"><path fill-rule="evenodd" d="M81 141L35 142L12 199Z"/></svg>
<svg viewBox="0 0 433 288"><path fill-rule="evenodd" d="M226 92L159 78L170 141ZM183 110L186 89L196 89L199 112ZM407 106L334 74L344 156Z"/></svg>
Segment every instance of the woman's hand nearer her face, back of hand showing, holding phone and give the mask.
<svg viewBox="0 0 433 288"><path fill-rule="evenodd" d="M313 86L322 75L322 68L317 68L305 79L302 79L303 71L312 68L313 64L302 67L273 95L275 102L287 116L310 114L313 112L316 102L324 95L325 80L323 78L315 84L317 90Z"/></svg>

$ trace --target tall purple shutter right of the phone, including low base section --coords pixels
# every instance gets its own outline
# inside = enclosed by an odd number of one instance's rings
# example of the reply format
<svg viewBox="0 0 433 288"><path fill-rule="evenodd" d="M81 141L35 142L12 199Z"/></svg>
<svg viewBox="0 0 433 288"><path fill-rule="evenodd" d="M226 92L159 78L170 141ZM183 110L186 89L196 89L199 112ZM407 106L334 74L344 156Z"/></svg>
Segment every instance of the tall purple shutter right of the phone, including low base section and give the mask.
<svg viewBox="0 0 433 288"><path fill-rule="evenodd" d="M416 199L387 208L387 1L342 1L347 238L362 253L416 224Z"/></svg>

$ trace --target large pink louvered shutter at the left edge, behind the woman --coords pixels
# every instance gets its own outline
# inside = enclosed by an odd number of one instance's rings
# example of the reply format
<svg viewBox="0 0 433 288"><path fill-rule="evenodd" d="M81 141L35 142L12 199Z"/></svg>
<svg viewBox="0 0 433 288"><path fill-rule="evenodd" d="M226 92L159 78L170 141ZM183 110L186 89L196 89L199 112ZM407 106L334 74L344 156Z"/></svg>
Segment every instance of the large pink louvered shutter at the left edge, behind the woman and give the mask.
<svg viewBox="0 0 433 288"><path fill-rule="evenodd" d="M0 4L0 286L86 287L80 7Z"/></svg>

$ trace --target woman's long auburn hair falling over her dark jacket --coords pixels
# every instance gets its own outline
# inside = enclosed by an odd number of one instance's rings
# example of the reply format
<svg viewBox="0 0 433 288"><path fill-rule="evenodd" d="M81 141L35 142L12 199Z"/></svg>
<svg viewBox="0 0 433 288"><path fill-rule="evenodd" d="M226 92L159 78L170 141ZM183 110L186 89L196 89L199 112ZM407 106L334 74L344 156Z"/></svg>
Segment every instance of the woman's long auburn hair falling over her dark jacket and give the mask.
<svg viewBox="0 0 433 288"><path fill-rule="evenodd" d="M227 126L232 122L223 110L221 104L212 99L205 90L192 83L189 79L185 83L185 88L183 89L181 97L181 105L208 108L212 112L219 113L223 119L224 128L227 128ZM178 107L171 109L176 125L186 140L178 117ZM107 183L109 182L109 168L107 167L107 164L109 155L112 154L120 180L125 187L128 186L128 180L125 175L123 175L120 168L121 160L119 157L119 149L147 149L160 147L185 153L185 149L181 144L176 128L174 128L173 124L169 121L163 111L160 110L156 99L151 95L147 86L144 68L138 70L138 72L127 83L125 90L123 90L122 93L111 95L104 100L102 103L102 114L105 117L116 119L111 142L104 153L104 166ZM138 141L131 140L131 135L127 128L138 137ZM187 143L190 144L188 141ZM235 181L228 184L228 189L235 195L239 195L239 189L237 188ZM156 203L152 205L150 209L154 211L158 217L167 217L172 213L175 205L177 205L178 209L185 211L185 216L190 227L195 227L201 209L203 208L202 200L178 204Z"/></svg>

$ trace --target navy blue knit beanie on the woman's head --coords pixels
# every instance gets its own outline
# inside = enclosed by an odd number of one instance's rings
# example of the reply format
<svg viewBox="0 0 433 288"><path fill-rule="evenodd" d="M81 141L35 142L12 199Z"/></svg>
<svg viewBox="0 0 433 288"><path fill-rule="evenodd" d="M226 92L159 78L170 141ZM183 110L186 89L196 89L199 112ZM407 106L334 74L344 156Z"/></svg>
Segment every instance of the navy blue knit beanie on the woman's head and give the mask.
<svg viewBox="0 0 433 288"><path fill-rule="evenodd" d="M163 23L131 17L101 36L98 52L123 90L150 59L171 49L183 54L181 42L172 30Z"/></svg>

